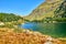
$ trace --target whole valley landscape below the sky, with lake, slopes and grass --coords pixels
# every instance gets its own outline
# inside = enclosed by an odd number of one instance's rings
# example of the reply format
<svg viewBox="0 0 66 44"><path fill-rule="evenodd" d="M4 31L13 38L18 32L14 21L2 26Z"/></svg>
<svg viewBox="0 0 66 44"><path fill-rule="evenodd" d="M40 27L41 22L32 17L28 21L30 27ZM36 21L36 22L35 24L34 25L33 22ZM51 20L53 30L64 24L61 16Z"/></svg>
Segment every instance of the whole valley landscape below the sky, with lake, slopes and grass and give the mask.
<svg viewBox="0 0 66 44"><path fill-rule="evenodd" d="M0 12L0 44L66 44L66 0L46 0L25 16Z"/></svg>

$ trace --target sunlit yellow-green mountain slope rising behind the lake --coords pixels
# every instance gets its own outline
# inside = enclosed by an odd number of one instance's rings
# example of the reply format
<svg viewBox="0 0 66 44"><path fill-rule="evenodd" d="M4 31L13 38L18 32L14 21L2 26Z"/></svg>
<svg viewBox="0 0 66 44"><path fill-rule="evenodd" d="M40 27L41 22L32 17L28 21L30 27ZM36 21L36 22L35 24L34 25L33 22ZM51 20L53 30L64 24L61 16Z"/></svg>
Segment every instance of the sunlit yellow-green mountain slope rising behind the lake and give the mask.
<svg viewBox="0 0 66 44"><path fill-rule="evenodd" d="M54 16L54 11L56 8L61 6L63 0L46 0L42 4L40 4L36 9L34 9L31 14L28 16L24 16L26 20L42 20L45 18L53 18Z"/></svg>

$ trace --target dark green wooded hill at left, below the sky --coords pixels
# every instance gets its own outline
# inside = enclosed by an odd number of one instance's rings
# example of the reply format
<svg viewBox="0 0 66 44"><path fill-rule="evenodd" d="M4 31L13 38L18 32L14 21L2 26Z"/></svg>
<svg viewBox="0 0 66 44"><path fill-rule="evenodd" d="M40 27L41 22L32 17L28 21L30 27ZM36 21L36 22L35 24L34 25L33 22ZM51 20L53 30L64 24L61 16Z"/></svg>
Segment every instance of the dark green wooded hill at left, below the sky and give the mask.
<svg viewBox="0 0 66 44"><path fill-rule="evenodd" d="M0 21L1 22L18 21L19 19L22 19L22 18L19 15L15 15L13 13L0 13Z"/></svg>

